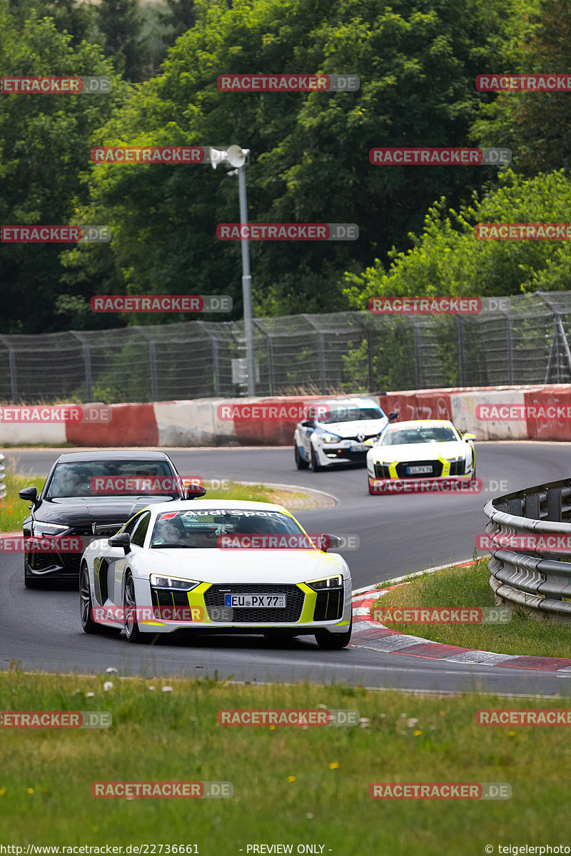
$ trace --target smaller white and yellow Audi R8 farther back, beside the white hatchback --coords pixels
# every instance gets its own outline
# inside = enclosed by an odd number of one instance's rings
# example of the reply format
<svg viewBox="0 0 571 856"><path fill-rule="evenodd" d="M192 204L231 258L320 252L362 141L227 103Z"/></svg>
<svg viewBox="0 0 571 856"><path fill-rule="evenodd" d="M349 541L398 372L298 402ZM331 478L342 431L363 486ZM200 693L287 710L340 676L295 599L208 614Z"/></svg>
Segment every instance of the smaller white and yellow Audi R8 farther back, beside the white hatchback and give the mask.
<svg viewBox="0 0 571 856"><path fill-rule="evenodd" d="M390 492L401 479L476 478L473 434L461 434L446 419L416 419L390 425L366 453L369 492Z"/></svg>

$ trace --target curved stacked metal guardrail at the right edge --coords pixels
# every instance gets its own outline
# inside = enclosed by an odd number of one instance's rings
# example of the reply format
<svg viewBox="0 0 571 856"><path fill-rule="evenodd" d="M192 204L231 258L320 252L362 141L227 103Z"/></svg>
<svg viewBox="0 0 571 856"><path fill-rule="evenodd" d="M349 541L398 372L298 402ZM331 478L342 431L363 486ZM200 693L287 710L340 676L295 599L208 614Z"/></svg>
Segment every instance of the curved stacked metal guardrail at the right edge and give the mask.
<svg viewBox="0 0 571 856"><path fill-rule="evenodd" d="M486 503L484 513L492 540L500 535L545 536L541 550L507 550L495 544L488 548L496 602L571 621L571 479L499 496Z"/></svg>

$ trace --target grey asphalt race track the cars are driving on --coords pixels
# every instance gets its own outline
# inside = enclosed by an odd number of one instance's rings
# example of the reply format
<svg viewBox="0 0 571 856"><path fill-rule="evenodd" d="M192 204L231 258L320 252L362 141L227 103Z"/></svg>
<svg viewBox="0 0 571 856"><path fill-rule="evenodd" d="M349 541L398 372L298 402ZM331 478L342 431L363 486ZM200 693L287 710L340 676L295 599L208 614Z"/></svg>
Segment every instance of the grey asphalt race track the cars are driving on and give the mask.
<svg viewBox="0 0 571 856"><path fill-rule="evenodd" d="M492 496L562 479L571 443L478 443L484 493L370 496L364 468L313 474L298 471L292 449L171 449L179 472L204 479L237 479L312 487L336 498L334 508L299 512L309 532L356 534L359 550L344 553L354 589L402 574L471 558L485 532L482 508ZM59 450L5 449L6 463L45 475ZM494 484L494 482L496 484ZM498 489L497 483L503 482ZM31 479L30 484L33 484ZM262 637L164 639L152 647L82 633L76 591L27 590L21 556L0 556L0 658L21 669L83 674L233 676L236 681L331 681L425 691L486 689L499 693L569 692L569 675L405 657L352 645L321 651L312 637L269 644ZM477 604L476 604L477 605Z"/></svg>

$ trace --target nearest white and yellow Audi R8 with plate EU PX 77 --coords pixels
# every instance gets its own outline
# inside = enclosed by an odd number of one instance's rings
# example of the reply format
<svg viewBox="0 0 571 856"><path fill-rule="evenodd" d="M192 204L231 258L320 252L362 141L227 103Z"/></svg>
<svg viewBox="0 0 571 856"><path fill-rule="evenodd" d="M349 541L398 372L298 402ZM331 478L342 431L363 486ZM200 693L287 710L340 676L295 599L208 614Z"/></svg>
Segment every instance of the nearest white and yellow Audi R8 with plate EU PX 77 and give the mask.
<svg viewBox="0 0 571 856"><path fill-rule="evenodd" d="M312 634L340 649L351 638L351 574L335 535L307 535L269 502L195 499L156 503L81 558L86 633Z"/></svg>

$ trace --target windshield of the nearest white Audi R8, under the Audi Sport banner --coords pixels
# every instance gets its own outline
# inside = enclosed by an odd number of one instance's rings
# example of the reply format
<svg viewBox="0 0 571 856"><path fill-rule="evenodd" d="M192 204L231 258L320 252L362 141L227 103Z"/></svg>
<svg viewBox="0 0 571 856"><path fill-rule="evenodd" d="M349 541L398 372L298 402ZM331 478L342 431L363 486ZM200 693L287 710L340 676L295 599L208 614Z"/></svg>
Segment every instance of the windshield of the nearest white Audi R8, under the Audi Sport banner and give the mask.
<svg viewBox="0 0 571 856"><path fill-rule="evenodd" d="M152 531L151 546L220 547L240 546L241 535L298 535L304 532L281 511L248 511L244 508L197 508L159 514ZM222 541L221 536L237 536ZM246 540L243 545L247 546Z"/></svg>

